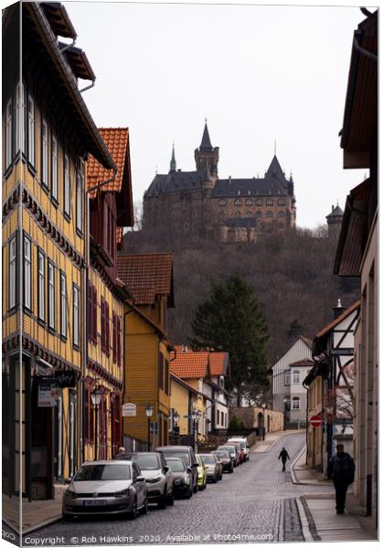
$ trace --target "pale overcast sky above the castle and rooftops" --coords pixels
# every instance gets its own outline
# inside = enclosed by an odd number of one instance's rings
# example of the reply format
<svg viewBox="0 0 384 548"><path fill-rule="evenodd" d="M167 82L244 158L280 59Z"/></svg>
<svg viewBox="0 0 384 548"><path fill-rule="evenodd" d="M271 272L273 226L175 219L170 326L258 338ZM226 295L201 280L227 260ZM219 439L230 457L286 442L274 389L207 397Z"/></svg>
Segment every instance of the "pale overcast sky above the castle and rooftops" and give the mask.
<svg viewBox="0 0 384 548"><path fill-rule="evenodd" d="M343 170L342 128L358 6L63 2L96 74L96 124L130 129L133 199L195 169L205 118L219 176L293 173L297 225L344 209L364 171Z"/></svg>

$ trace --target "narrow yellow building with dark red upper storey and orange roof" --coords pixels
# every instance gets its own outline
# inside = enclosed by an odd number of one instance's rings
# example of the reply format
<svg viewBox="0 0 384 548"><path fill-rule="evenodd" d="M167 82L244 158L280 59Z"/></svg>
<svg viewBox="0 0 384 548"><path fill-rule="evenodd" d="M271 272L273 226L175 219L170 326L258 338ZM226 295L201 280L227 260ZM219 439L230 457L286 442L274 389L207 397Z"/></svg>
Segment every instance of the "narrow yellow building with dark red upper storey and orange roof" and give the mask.
<svg viewBox="0 0 384 548"><path fill-rule="evenodd" d="M123 303L130 294L117 277L117 236L123 227L133 226L128 128L99 131L117 172L90 158L88 352L83 381L83 458L87 460L112 458L123 443ZM92 402L93 393L99 393L100 403Z"/></svg>

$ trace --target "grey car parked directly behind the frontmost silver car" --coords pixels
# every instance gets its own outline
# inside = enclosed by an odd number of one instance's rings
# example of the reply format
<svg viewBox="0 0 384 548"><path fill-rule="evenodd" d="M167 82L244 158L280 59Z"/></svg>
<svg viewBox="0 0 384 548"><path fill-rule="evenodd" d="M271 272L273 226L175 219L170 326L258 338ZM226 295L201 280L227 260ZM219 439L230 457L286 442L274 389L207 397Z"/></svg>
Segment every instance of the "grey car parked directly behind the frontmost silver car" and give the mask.
<svg viewBox="0 0 384 548"><path fill-rule="evenodd" d="M142 470L148 487L149 502L157 503L159 508L166 508L166 504L174 503L174 479L166 464L165 458L157 452L121 453L116 455L118 460L132 460Z"/></svg>

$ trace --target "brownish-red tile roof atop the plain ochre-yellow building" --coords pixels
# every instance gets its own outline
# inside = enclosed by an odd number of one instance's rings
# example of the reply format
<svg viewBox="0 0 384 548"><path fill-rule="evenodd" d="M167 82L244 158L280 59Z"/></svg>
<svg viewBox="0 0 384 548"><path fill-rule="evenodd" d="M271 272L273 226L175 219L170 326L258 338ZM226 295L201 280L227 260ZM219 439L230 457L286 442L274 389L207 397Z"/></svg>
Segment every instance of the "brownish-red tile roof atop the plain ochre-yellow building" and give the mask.
<svg viewBox="0 0 384 548"><path fill-rule="evenodd" d="M117 275L136 304L155 304L156 295L165 295L168 306L174 306L172 253L118 255Z"/></svg>

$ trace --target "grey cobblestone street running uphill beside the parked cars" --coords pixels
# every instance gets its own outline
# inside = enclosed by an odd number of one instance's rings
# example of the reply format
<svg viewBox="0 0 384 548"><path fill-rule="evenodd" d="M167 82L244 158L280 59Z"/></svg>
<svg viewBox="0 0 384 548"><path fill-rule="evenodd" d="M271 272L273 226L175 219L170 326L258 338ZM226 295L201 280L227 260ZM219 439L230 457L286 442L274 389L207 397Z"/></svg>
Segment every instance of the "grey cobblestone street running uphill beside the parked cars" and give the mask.
<svg viewBox="0 0 384 548"><path fill-rule="evenodd" d="M294 499L329 492L328 486L292 483L289 470L304 441L303 433L284 436L268 452L252 453L250 461L234 474L225 474L222 481L209 484L190 501L177 500L166 510L150 507L148 515L136 521L61 521L27 534L23 544L38 545L48 537L51 545L303 541ZM277 460L283 446L291 457L286 472Z"/></svg>

